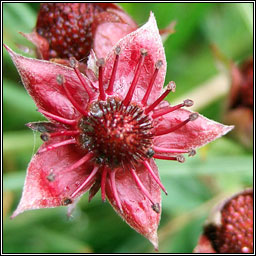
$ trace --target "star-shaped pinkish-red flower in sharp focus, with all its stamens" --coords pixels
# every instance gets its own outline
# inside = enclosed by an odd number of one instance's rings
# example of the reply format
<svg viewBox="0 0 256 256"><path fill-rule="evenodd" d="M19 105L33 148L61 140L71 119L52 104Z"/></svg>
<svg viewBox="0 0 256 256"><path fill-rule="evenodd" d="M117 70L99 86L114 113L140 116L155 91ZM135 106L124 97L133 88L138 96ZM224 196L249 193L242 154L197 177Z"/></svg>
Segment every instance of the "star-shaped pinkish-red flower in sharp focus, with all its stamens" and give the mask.
<svg viewBox="0 0 256 256"><path fill-rule="evenodd" d="M7 47L6 47L7 48ZM20 56L9 48L25 88L49 122L28 126L45 143L31 160L23 195L12 215L69 205L101 189L115 211L158 246L160 182L153 158L184 161L183 154L232 129L163 101L164 49L154 16L97 60L97 81L70 59L70 67Z"/></svg>

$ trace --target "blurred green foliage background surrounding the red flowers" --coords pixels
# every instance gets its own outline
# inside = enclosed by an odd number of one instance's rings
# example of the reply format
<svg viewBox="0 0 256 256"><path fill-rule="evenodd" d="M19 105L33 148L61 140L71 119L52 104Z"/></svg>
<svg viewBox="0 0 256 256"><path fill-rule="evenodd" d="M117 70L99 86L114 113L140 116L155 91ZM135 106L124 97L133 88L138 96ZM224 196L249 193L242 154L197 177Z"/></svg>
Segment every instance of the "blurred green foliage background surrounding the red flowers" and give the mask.
<svg viewBox="0 0 256 256"><path fill-rule="evenodd" d="M252 55L252 4L125 3L122 7L139 25L147 21L150 11L159 28L177 21L176 33L164 43L166 82L174 80L177 84L176 93L168 98L172 103L203 91L209 79L218 76L211 44L238 63ZM18 32L32 31L38 8L37 3L3 4L4 43L20 53L19 45L31 46ZM154 252L151 244L99 196L88 203L88 195L84 195L72 219L67 219L65 207L29 211L9 219L19 202L27 165L41 144L38 134L33 134L25 123L44 119L36 112L5 49L3 69L4 253ZM216 91L221 89L218 86ZM195 110L221 121L225 93L200 96L206 103ZM214 204L253 182L252 149L228 136L203 147L184 164L158 161L158 165L169 194L162 195L159 252L163 253L192 252Z"/></svg>

